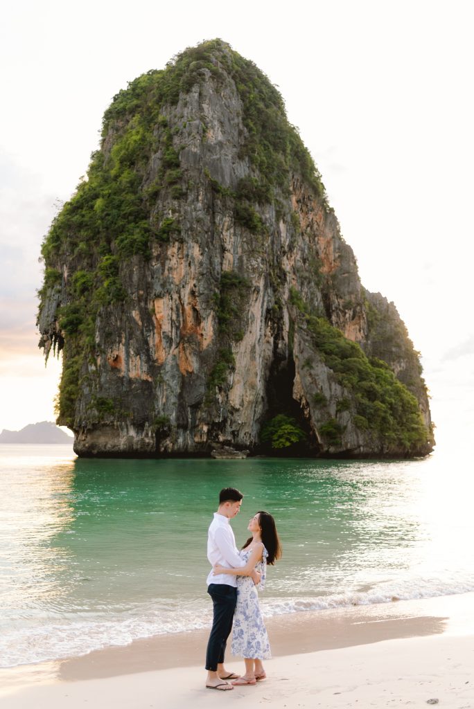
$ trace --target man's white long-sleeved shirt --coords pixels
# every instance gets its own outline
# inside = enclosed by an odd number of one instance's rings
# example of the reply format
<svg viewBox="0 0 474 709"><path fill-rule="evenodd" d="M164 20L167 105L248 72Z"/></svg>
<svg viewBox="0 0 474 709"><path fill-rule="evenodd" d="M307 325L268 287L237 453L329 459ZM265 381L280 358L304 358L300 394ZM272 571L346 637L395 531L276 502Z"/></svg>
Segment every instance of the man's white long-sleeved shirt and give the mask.
<svg viewBox="0 0 474 709"><path fill-rule="evenodd" d="M211 566L221 564L228 569L239 569L246 565L246 562L238 555L236 547L236 537L233 536L233 530L228 522L228 518L224 515L219 515L214 512L214 520L212 520L207 535L207 558ZM237 586L237 577L232 574L216 574L211 569L211 573L207 577L207 585L209 584L227 584L227 586Z"/></svg>

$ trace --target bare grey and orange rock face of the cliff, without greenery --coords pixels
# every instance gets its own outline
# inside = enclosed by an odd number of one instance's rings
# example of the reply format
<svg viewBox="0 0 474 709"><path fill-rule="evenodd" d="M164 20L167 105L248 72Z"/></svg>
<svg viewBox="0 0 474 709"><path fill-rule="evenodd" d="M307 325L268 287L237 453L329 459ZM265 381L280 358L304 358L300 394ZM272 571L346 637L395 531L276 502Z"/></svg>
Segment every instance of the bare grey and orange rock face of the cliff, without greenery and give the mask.
<svg viewBox="0 0 474 709"><path fill-rule="evenodd" d="M418 354L395 306L363 289L353 251L325 199L314 196L294 172L289 190L277 189L272 203L255 203L265 232L251 233L234 218L226 195L241 178L259 177L242 156L246 127L233 79L225 75L216 82L202 69L200 82L162 113L180 155L184 196L175 199L162 189L150 220L168 216L179 230L170 242L153 242L150 259L136 255L120 264L128 299L104 306L95 320L96 350L82 360L70 423L76 452L214 457L222 457L219 451L258 452L261 426L278 405L282 411L292 408L307 426L310 454L406 454L396 446L382 447L355 426L349 410L341 411L338 402L353 394L324 364L291 305L293 289L313 313L368 354L385 359L417 396L429 427ZM155 136L158 147L145 168L144 190L158 179L162 165L165 143L158 127ZM115 139L114 130L104 138L106 159ZM57 308L69 302L71 274L81 267L75 258L67 252L56 257L62 286L50 289L38 321L46 354L65 338ZM226 272L240 274L248 287L233 293L240 303L233 324L239 334L223 339L216 294ZM231 350L232 360L213 385L223 349ZM277 372L287 372L283 386L275 384ZM280 401L277 395L270 401L272 388L280 389ZM113 407L99 411L98 398ZM328 419L341 427L337 442L320 434ZM431 447L413 452L426 454Z"/></svg>

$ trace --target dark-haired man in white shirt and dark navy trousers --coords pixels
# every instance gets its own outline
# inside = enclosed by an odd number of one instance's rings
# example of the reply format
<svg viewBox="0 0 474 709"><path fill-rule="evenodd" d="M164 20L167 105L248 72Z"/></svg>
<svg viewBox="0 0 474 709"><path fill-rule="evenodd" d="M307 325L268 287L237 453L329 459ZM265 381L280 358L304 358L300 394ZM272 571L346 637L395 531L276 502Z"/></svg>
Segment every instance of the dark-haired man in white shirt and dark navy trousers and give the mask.
<svg viewBox="0 0 474 709"><path fill-rule="evenodd" d="M246 565L238 555L236 539L229 524L229 520L238 515L241 509L242 498L243 494L236 488L224 488L219 493L219 509L214 513L207 537L207 558L211 566L222 564L229 569L236 569ZM258 584L258 571L253 571L252 578ZM214 618L206 652L206 687L227 691L233 689L233 686L224 680L238 678L238 675L228 672L224 667L226 642L232 630L233 611L237 603L237 579L230 574L214 576L211 569L207 584L207 593L214 605Z"/></svg>

